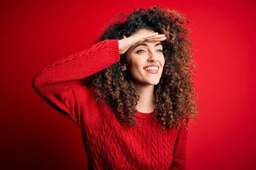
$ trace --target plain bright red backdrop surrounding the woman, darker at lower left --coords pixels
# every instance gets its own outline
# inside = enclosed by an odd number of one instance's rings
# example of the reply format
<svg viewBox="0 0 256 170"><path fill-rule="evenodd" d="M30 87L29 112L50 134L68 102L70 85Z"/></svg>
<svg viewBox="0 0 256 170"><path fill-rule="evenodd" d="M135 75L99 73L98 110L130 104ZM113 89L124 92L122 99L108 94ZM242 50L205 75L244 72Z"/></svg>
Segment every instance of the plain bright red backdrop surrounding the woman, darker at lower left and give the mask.
<svg viewBox="0 0 256 170"><path fill-rule="evenodd" d="M8 0L0 4L1 167L87 169L79 127L36 94L32 78L88 48L114 14L157 3L193 21L201 110L189 124L188 169L256 166L253 0Z"/></svg>

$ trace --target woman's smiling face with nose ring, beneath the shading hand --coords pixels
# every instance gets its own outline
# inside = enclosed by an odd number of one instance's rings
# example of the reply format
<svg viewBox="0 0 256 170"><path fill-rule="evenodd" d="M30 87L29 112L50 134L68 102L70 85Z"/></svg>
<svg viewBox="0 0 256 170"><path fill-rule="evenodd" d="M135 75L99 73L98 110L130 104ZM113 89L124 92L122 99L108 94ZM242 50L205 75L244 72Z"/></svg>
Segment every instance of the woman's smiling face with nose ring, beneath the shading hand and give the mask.
<svg viewBox="0 0 256 170"><path fill-rule="evenodd" d="M154 33L154 31L141 29L134 34L149 33ZM160 41L144 41L142 43L131 46L126 51L126 69L131 73L130 81L144 85L157 85L160 81L165 63L162 51L163 46L160 44ZM148 65L153 65L152 61L154 61L154 64L157 62L156 65L148 68ZM157 71L149 70L156 69L155 67L158 67Z"/></svg>

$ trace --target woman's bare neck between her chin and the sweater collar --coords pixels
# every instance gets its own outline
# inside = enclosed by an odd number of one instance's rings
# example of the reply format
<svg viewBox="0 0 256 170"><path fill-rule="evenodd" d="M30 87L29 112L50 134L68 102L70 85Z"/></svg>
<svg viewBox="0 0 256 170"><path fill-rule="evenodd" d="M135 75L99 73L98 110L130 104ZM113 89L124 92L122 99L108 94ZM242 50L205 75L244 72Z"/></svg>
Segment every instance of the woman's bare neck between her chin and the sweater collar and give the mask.
<svg viewBox="0 0 256 170"><path fill-rule="evenodd" d="M130 83L140 96L136 106L137 111L143 113L150 113L154 111L154 85L135 83L133 80L130 80Z"/></svg>

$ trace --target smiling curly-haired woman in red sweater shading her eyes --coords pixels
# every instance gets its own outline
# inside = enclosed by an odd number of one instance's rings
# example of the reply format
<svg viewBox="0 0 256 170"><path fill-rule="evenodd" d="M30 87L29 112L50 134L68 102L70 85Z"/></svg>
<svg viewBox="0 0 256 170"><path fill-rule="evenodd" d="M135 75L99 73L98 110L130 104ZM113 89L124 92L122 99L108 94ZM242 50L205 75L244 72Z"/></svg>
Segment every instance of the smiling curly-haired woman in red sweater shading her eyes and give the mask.
<svg viewBox="0 0 256 170"><path fill-rule="evenodd" d="M186 169L187 123L198 108L181 18L161 6L134 10L33 78L80 127L89 169Z"/></svg>

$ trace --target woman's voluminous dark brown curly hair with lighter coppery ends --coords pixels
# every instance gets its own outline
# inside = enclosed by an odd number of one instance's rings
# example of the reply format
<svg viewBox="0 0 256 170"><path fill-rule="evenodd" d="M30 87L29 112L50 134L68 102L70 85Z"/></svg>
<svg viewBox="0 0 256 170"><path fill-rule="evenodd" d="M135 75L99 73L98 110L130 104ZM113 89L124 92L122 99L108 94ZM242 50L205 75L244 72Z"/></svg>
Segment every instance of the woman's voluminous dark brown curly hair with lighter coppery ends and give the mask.
<svg viewBox="0 0 256 170"><path fill-rule="evenodd" d="M154 85L155 113L152 118L162 122L162 133L166 126L180 129L181 122L187 131L185 121L195 119L199 109L199 96L192 82L192 72L197 70L193 60L193 44L188 36L190 30L184 26L185 21L189 21L176 10L161 8L162 6L157 5L135 8L132 14L116 14L93 43L107 39L121 40L123 35L129 37L140 29L165 34L167 38L162 42L165 65L160 82ZM102 98L120 124L131 127L137 125L134 116L140 97L129 82L129 71L121 70L122 65L127 64L125 55L126 53L120 55L118 63L83 79L82 83L95 88L95 102Z"/></svg>

